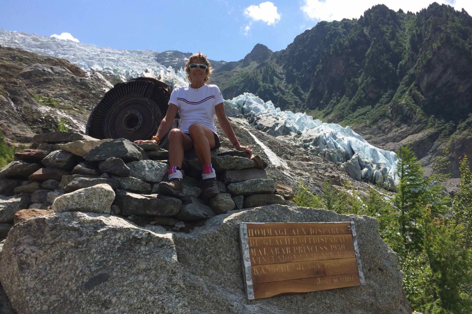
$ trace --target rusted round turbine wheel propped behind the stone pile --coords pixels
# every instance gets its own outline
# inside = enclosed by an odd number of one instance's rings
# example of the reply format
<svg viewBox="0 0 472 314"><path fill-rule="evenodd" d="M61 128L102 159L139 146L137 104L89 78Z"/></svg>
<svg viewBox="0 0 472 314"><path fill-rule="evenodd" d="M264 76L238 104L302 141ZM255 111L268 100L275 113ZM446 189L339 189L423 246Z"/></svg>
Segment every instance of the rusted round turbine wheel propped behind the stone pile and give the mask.
<svg viewBox="0 0 472 314"><path fill-rule="evenodd" d="M95 138L151 139L166 115L168 85L149 77L116 84L93 109L86 134ZM167 140L162 139L161 145Z"/></svg>

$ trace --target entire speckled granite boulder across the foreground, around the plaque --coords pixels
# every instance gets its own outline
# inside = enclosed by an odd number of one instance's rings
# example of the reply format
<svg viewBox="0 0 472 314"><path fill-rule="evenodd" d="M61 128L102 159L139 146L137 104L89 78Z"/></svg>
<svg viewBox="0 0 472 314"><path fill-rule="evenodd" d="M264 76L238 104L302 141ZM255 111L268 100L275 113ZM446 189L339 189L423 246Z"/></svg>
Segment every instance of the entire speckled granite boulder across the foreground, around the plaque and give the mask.
<svg viewBox="0 0 472 314"><path fill-rule="evenodd" d="M366 284L247 301L237 224L261 221L354 221ZM0 262L13 308L26 314L412 312L396 255L367 216L268 205L215 216L189 233L148 227L81 212L14 226ZM65 298L71 301L56 301Z"/></svg>

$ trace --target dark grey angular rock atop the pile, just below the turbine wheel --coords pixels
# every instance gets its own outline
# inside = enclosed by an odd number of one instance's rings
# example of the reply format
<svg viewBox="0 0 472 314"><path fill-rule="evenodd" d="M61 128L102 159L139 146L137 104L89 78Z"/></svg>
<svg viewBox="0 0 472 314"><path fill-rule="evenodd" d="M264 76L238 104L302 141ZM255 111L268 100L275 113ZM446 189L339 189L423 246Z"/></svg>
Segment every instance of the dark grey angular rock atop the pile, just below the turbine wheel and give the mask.
<svg viewBox="0 0 472 314"><path fill-rule="evenodd" d="M120 158L125 162L143 159L142 150L124 138L106 141L94 147L84 156L85 161L104 161L110 157ZM143 151L144 152L144 151ZM145 153L145 152L144 152ZM147 157L147 156L146 156Z"/></svg>

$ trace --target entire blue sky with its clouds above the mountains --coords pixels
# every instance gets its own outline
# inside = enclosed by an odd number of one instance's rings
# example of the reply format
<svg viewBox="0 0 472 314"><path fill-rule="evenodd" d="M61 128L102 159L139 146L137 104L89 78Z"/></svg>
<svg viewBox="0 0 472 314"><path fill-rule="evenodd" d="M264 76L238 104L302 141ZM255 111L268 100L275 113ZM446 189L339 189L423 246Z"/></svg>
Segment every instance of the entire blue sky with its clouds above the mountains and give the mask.
<svg viewBox="0 0 472 314"><path fill-rule="evenodd" d="M416 12L431 0L295 1L25 1L0 0L0 29L43 36L70 33L84 43L115 49L202 51L236 61L256 43L285 49L320 20L358 18L371 6ZM472 12L470 0L439 0Z"/></svg>

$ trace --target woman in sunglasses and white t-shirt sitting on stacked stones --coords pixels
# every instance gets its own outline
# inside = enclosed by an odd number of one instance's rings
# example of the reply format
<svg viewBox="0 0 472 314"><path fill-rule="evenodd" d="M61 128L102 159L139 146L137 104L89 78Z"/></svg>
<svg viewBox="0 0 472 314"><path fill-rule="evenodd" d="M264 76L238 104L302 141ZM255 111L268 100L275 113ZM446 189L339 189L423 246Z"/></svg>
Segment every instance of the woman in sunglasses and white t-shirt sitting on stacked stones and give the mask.
<svg viewBox="0 0 472 314"><path fill-rule="evenodd" d="M218 86L208 85L212 68L206 56L202 53L192 55L185 64L188 86L176 88L170 95L167 114L160 122L156 136L151 141L135 141L136 144L157 143L172 126L177 111L180 114L180 126L169 133L169 180L160 182L158 193L179 198L182 192L182 161L184 152L192 147L202 163L203 192L202 199L210 200L218 195L219 188L216 173L211 166L210 150L219 148L219 137L214 124L215 114L218 123L229 141L238 151L246 151L248 158L252 150L241 146L233 128L225 115L223 97Z"/></svg>

